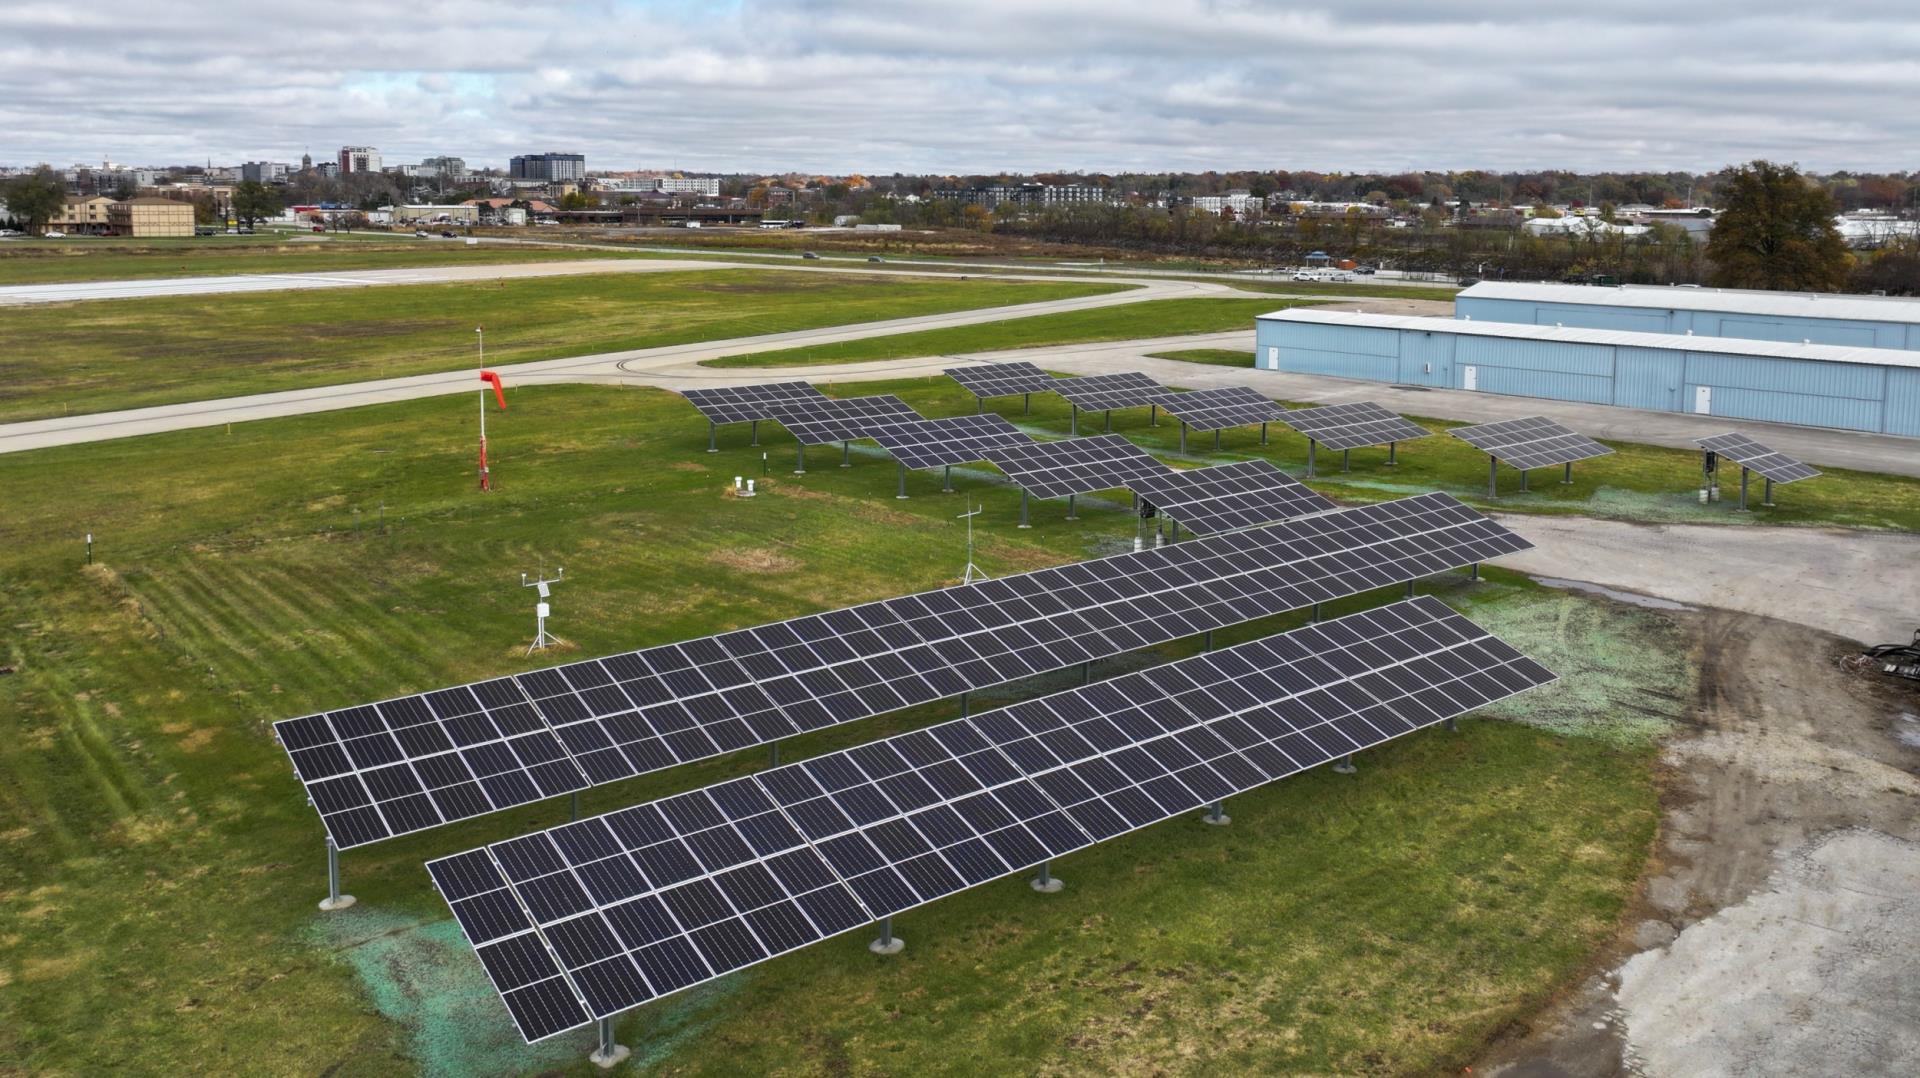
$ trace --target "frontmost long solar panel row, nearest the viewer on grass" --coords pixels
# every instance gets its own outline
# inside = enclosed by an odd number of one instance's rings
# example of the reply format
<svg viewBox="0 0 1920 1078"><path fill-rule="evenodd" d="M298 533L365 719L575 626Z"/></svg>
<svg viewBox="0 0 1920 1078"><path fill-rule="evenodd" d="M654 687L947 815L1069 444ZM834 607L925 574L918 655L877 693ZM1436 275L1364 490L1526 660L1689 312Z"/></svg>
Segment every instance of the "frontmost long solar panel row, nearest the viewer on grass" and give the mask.
<svg viewBox="0 0 1920 1078"><path fill-rule="evenodd" d="M1421 598L426 869L538 1041L1551 680Z"/></svg>

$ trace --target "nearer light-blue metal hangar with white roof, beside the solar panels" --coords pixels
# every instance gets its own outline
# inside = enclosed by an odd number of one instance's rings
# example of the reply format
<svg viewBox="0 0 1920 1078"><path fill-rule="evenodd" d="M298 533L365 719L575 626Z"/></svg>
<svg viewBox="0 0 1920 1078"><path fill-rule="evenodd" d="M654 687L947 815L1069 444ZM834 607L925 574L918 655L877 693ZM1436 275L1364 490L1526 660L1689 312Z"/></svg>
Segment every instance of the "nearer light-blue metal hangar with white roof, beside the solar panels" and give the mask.
<svg viewBox="0 0 1920 1078"><path fill-rule="evenodd" d="M1920 352L1298 307L1256 319L1261 371L1920 438Z"/></svg>

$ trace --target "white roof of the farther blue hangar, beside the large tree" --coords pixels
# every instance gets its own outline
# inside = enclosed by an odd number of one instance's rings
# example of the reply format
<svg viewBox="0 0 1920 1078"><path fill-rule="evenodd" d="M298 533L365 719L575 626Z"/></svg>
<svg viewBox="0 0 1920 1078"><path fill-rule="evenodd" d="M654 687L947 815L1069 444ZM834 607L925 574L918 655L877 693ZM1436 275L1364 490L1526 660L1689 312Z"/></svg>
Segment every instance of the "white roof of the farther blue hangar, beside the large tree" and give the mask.
<svg viewBox="0 0 1920 1078"><path fill-rule="evenodd" d="M1523 300L1594 307L1651 307L1661 311L1722 311L1920 325L1920 300L1905 296L1841 296L1832 292L1763 292L1753 288L1674 288L1661 284L1523 284L1482 281L1463 300Z"/></svg>

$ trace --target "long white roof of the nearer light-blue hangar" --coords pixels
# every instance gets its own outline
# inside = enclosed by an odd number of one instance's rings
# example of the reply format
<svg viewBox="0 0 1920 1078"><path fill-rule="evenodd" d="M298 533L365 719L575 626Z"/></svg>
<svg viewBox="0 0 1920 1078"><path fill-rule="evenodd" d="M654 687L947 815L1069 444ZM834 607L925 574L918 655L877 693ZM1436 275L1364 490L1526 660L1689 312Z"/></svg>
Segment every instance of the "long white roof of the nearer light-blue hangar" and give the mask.
<svg viewBox="0 0 1920 1078"><path fill-rule="evenodd" d="M1613 292L1613 288L1586 290L1601 294ZM1695 336L1684 332L1636 332L1622 329L1580 329L1417 315L1363 315L1352 311L1321 311L1311 307L1273 311L1271 315L1260 315L1258 321L1394 329L1402 332L1452 332L1457 336L1501 336L1507 340L1548 340L1561 344L1607 344L1617 348L1665 348L1668 352L1713 352L1718 355L1768 355L1776 359L1820 359L1824 363L1866 363L1872 367L1920 369L1920 352L1908 352L1905 348L1851 348L1845 344L1788 344L1780 340Z"/></svg>

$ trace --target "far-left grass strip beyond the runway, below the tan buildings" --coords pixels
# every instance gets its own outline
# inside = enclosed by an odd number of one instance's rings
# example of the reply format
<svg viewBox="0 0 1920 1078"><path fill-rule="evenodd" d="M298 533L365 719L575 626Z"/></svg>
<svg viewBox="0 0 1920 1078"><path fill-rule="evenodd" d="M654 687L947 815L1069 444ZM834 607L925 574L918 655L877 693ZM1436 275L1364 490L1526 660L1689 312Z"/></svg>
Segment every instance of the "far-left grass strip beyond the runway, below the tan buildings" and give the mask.
<svg viewBox="0 0 1920 1078"><path fill-rule="evenodd" d="M311 236L311 238L309 238ZM501 265L522 261L580 261L593 257L659 257L641 252L589 252L455 240L411 234L253 234L180 240L10 240L0 244L0 284L71 284L144 277L232 277L240 273L328 273L349 269L413 269L442 265Z"/></svg>

